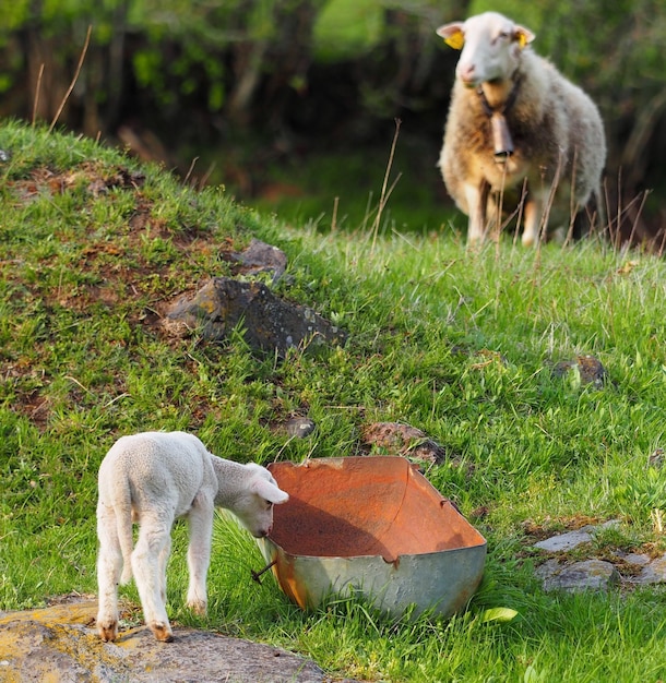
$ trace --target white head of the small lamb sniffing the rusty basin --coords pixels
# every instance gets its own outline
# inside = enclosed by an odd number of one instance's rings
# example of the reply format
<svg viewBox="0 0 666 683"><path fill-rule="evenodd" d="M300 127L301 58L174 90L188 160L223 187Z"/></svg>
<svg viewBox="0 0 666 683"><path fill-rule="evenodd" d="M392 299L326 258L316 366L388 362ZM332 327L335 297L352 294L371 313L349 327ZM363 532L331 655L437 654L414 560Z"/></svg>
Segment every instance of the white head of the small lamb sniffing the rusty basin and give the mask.
<svg viewBox="0 0 666 683"><path fill-rule="evenodd" d="M247 486L234 502L234 514L255 538L263 538L273 528L273 505L286 503L289 494L278 486L271 472L261 465L248 463Z"/></svg>

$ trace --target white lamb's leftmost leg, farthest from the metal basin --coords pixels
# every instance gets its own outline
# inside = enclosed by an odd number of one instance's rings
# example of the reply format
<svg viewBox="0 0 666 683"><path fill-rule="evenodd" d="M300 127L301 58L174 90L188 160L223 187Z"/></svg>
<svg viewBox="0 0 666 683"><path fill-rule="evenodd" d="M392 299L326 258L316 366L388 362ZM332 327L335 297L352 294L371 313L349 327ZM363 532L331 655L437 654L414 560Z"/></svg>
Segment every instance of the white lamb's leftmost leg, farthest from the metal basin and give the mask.
<svg viewBox="0 0 666 683"><path fill-rule="evenodd" d="M108 642L118 637L118 582L122 571L116 515L108 505L97 506L97 633L103 640Z"/></svg>

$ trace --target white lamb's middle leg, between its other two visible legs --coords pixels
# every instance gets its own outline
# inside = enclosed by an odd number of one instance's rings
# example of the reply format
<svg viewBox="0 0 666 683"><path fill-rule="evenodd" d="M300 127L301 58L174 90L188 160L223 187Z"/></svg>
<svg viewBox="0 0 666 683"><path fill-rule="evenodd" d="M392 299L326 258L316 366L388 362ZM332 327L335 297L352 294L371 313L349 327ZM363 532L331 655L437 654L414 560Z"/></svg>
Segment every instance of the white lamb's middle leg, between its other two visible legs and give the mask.
<svg viewBox="0 0 666 683"><path fill-rule="evenodd" d="M162 599L164 580L162 564L166 565L166 549L170 546L173 517L143 514L139 539L132 553L132 571L143 607L145 622L157 640L170 643L174 632Z"/></svg>

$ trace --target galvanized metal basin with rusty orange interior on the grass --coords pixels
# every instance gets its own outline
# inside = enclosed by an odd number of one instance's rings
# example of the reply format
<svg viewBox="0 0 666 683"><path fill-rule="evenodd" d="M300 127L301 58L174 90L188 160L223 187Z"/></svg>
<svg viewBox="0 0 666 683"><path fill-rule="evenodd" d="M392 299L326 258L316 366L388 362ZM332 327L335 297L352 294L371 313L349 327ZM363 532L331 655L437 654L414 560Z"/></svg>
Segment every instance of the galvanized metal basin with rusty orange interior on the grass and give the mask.
<svg viewBox="0 0 666 683"><path fill-rule="evenodd" d="M302 609L360 592L383 611L449 615L475 592L486 540L402 457L317 458L269 469L289 501L259 540Z"/></svg>

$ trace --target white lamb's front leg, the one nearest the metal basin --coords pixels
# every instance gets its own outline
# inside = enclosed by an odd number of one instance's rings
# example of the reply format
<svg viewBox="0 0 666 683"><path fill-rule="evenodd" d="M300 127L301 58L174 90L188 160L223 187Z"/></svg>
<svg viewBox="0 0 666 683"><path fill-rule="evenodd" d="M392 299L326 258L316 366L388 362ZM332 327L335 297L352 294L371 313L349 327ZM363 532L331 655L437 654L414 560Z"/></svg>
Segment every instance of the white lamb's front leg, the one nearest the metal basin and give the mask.
<svg viewBox="0 0 666 683"><path fill-rule="evenodd" d="M206 577L211 563L213 511L213 501L200 494L194 499L188 515L188 524L190 526L188 607L202 616L205 615L209 604Z"/></svg>

